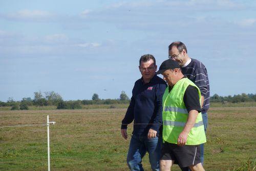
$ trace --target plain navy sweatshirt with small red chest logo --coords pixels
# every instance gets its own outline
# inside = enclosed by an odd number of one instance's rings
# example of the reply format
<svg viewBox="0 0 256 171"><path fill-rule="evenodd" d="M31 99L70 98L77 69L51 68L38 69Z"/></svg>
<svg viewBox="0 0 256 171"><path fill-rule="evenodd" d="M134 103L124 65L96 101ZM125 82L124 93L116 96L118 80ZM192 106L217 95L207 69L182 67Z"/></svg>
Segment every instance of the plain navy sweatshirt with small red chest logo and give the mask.
<svg viewBox="0 0 256 171"><path fill-rule="evenodd" d="M127 129L127 125L134 120L134 135L147 135L150 129L157 131L159 135L162 124L162 97L166 87L166 82L157 75L146 84L142 78L137 80L121 129Z"/></svg>

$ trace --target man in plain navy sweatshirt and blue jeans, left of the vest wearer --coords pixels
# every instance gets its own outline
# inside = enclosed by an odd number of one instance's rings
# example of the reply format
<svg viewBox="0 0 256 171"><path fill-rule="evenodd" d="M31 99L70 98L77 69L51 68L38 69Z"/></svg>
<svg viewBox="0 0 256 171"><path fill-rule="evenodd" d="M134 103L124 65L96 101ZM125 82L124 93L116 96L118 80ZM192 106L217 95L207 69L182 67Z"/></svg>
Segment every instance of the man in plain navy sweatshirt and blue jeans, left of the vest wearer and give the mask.
<svg viewBox="0 0 256 171"><path fill-rule="evenodd" d="M144 170L142 158L148 152L152 170L159 170L162 137L162 96L166 83L156 75L153 55L143 55L139 61L142 78L135 82L130 105L122 120L121 134L127 139L127 125L134 121L133 134L127 154L131 170Z"/></svg>

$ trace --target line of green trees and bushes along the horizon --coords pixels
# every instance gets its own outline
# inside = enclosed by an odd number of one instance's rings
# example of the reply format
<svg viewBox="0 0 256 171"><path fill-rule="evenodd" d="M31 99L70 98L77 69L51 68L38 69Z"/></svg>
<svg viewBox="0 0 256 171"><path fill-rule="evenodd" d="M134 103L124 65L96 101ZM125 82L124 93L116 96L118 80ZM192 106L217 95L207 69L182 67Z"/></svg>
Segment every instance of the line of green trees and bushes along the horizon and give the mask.
<svg viewBox="0 0 256 171"><path fill-rule="evenodd" d="M239 103L239 102L256 102L256 94L238 94L220 96L214 94L210 97L210 103ZM11 110L28 110L29 106L57 106L57 109L81 109L82 105L115 105L115 104L128 104L130 103L129 97L124 91L121 91L119 99L100 99L97 93L92 95L92 100L76 100L76 101L63 101L60 94L54 91L47 91L44 94L41 91L34 92L34 99L31 97L24 97L22 101L14 101L9 97L7 102L0 101L1 106L9 106Z"/></svg>

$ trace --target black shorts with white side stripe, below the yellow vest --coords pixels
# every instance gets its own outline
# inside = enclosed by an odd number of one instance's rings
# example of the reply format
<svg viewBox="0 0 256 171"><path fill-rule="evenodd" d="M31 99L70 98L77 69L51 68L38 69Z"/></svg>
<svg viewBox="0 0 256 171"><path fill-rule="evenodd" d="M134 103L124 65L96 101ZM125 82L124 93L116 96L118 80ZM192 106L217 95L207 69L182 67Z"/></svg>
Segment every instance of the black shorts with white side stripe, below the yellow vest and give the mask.
<svg viewBox="0 0 256 171"><path fill-rule="evenodd" d="M201 163L200 145L179 146L174 143L163 143L160 160L174 160L180 167Z"/></svg>

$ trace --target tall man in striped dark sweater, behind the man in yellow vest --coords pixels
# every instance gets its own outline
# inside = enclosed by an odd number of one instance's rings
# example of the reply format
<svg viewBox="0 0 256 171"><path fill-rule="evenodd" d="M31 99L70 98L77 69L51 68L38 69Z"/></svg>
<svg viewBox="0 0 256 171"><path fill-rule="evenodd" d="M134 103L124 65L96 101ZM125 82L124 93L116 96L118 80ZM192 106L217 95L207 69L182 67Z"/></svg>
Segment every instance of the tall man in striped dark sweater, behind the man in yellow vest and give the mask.
<svg viewBox="0 0 256 171"><path fill-rule="evenodd" d="M194 82L201 91L201 111L204 123L204 131L206 132L208 116L207 110L209 109L210 99L210 86L206 67L204 64L196 59L189 58L187 55L187 48L184 43L175 41L168 47L168 58L175 60L181 66L182 74L189 80ZM204 161L204 144L200 145L200 159L203 164ZM189 170L183 168L182 170Z"/></svg>

